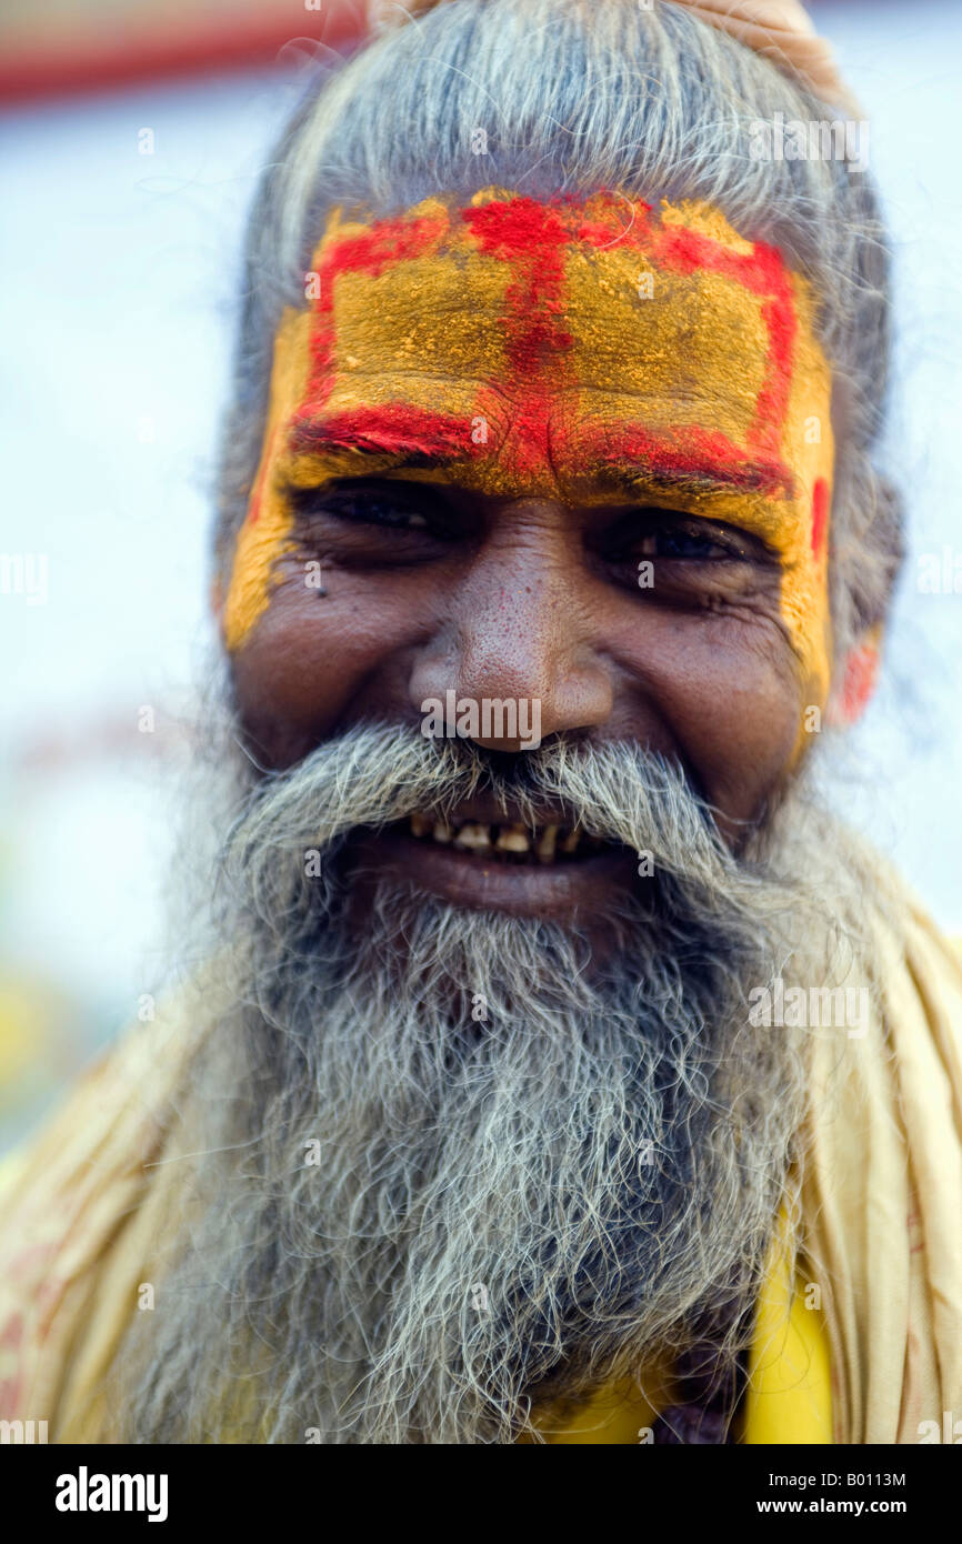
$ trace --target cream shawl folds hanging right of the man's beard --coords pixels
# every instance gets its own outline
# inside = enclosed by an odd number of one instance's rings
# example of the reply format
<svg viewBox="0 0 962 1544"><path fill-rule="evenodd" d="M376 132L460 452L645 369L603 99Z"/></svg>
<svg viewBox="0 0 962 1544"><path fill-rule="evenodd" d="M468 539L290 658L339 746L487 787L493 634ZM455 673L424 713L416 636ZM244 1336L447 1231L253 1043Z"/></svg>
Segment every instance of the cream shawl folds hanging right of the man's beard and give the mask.
<svg viewBox="0 0 962 1544"><path fill-rule="evenodd" d="M803 1220L835 1441L919 1442L962 1419L962 965L913 902L874 933L880 1013L812 1039Z"/></svg>

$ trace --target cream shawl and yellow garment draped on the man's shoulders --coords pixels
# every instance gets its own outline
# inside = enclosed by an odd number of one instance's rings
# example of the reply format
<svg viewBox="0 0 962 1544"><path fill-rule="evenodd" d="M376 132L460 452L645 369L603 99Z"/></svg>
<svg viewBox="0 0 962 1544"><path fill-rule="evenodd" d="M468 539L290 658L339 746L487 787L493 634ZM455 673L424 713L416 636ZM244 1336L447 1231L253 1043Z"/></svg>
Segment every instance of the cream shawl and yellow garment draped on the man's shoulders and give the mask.
<svg viewBox="0 0 962 1544"><path fill-rule="evenodd" d="M866 1033L809 1034L803 1274L789 1306L780 1238L747 1444L825 1442L829 1419L838 1444L917 1442L922 1420L940 1430L962 1410L962 967L882 865L876 877L888 920L871 923ZM188 1087L191 1022L182 1004L137 1025L5 1166L0 1419L46 1420L51 1441L110 1441L102 1377L184 1203L168 1115ZM605 1391L545 1439L638 1442L650 1414Z"/></svg>

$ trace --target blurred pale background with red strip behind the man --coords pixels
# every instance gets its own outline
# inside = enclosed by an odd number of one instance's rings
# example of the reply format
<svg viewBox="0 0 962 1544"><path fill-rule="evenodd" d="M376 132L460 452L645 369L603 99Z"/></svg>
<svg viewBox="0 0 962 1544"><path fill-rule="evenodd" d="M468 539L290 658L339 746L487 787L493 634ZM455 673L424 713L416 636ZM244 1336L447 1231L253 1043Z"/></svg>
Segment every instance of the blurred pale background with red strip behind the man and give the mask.
<svg viewBox="0 0 962 1544"><path fill-rule="evenodd" d="M911 537L831 794L962 934L962 8L809 9L868 113L894 236L886 460ZM304 59L361 25L361 0L5 0L0 1147L150 1013L167 963L244 213Z"/></svg>

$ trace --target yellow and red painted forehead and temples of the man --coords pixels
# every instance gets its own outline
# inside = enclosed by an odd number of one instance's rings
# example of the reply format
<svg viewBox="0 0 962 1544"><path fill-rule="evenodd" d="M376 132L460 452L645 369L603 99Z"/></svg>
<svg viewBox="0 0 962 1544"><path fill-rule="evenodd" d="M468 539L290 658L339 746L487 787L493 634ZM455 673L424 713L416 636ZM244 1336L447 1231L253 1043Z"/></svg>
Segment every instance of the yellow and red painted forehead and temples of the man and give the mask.
<svg viewBox="0 0 962 1544"><path fill-rule="evenodd" d="M778 252L704 204L485 188L386 219L335 210L313 270L320 296L276 335L229 648L293 545L286 488L391 472L741 525L778 553L781 616L825 699L831 372Z"/></svg>

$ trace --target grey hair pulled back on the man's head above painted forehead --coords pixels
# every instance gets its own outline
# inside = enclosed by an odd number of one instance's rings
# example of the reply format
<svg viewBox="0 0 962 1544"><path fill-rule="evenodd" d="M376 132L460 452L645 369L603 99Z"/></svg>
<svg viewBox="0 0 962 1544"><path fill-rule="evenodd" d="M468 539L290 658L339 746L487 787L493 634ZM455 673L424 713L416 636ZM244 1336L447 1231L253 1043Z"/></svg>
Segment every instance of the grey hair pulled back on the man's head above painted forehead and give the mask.
<svg viewBox="0 0 962 1544"><path fill-rule="evenodd" d="M752 125L818 122L826 103L670 3L449 0L326 69L255 199L219 471L225 570L256 471L270 347L337 204L375 215L496 184L533 196L618 188L704 199L777 245L814 286L843 418L832 503L838 664L888 608L900 500L872 452L889 360L889 258L874 187L845 159L752 156ZM479 134L479 131L483 131ZM486 154L473 153L486 144Z"/></svg>

